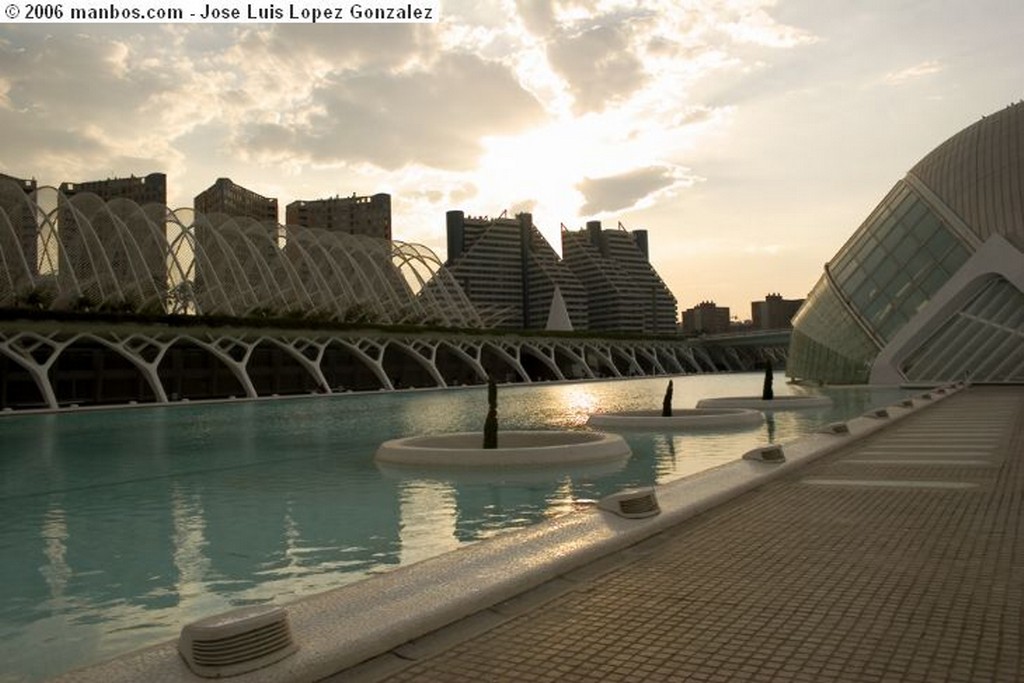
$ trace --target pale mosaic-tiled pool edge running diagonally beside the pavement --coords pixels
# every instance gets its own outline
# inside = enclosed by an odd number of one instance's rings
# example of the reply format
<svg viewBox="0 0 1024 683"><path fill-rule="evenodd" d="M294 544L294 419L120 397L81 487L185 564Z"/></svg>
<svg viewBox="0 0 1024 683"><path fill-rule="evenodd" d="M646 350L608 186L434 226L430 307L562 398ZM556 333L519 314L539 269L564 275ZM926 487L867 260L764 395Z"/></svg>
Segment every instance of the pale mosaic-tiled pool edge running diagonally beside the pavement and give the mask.
<svg viewBox="0 0 1024 683"><path fill-rule="evenodd" d="M283 606L298 651L264 669L232 676L231 680L317 681L356 667L637 545L869 436L965 386L961 383L943 387L943 393L916 394L782 443L784 462L759 460L761 450L769 445L765 444L742 458L737 454L735 461L659 485L654 490L660 514L653 517L629 519L595 506L287 603ZM187 668L175 639L52 680L196 683L210 679Z"/></svg>

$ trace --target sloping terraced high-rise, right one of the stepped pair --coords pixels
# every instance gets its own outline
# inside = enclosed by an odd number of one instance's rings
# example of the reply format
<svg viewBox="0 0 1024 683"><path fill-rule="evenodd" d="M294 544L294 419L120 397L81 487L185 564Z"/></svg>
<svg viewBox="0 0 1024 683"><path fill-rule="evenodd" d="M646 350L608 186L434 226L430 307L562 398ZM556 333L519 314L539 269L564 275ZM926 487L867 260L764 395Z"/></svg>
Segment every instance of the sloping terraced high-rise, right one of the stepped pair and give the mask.
<svg viewBox="0 0 1024 683"><path fill-rule="evenodd" d="M592 330L674 335L676 297L650 264L647 231L562 229L562 260L587 292Z"/></svg>

